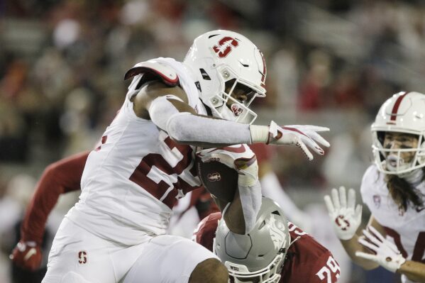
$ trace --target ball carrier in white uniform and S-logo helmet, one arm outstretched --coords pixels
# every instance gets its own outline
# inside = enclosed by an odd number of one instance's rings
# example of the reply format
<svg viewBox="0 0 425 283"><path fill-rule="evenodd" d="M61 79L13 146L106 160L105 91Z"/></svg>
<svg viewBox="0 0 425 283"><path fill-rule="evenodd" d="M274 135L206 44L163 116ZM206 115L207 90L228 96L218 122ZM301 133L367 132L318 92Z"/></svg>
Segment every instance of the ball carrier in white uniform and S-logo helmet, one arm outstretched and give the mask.
<svg viewBox="0 0 425 283"><path fill-rule="evenodd" d="M123 106L87 158L43 282L127 282L128 273L137 282L227 282L209 250L165 235L177 199L200 186L196 147L297 145L311 160L309 148L324 154L316 142L329 146L317 133L328 128L251 124L248 106L265 96L265 76L260 50L227 30L200 35L184 62L160 57L128 70ZM258 180L247 192L260 194ZM225 220L243 219L226 221L234 233L250 231L260 207L241 206L238 194L219 206Z"/></svg>

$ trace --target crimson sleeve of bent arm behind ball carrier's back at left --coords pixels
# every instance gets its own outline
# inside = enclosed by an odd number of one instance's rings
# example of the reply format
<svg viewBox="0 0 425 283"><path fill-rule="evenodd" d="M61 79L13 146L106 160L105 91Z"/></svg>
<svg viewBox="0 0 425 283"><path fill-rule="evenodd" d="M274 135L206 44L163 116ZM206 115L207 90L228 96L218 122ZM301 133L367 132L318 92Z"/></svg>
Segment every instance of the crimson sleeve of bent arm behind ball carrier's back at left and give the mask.
<svg viewBox="0 0 425 283"><path fill-rule="evenodd" d="M35 187L21 226L21 240L41 245L45 223L60 194L81 189L80 182L89 152L81 152L49 165Z"/></svg>

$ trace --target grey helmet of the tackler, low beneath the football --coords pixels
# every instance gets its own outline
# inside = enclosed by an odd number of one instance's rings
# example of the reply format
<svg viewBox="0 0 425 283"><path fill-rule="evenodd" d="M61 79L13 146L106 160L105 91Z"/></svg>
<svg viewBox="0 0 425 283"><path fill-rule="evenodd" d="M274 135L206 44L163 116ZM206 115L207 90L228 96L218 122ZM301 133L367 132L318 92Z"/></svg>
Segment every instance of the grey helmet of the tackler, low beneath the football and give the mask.
<svg viewBox="0 0 425 283"><path fill-rule="evenodd" d="M213 251L227 267L231 282L277 283L280 280L291 243L287 219L275 201L266 197L262 201L250 233L232 233L223 219L217 227Z"/></svg>

